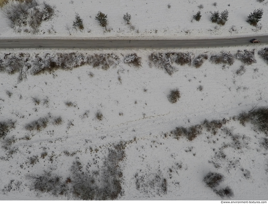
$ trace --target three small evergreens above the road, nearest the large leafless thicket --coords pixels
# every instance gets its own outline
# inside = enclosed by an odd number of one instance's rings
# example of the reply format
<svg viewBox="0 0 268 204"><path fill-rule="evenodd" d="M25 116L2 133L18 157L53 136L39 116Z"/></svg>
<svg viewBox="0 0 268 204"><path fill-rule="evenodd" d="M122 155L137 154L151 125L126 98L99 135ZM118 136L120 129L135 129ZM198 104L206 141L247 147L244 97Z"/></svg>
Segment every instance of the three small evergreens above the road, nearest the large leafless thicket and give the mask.
<svg viewBox="0 0 268 204"><path fill-rule="evenodd" d="M99 25L101 27L105 27L105 30L107 31L107 14L104 14L102 12L98 12L95 19L98 21ZM130 24L131 15L127 12L124 14L123 19L127 22L127 24ZM76 13L76 17L73 23L73 28L79 28L80 30L84 29L83 25L83 19L79 16L79 14ZM66 28L70 32L70 27Z"/></svg>

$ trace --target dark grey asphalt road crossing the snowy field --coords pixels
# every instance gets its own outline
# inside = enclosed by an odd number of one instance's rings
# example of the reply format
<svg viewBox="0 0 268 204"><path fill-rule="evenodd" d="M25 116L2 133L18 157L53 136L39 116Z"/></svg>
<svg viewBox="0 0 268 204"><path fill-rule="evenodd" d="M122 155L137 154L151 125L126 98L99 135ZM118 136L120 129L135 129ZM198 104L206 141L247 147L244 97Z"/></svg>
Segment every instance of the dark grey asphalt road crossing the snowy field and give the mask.
<svg viewBox="0 0 268 204"><path fill-rule="evenodd" d="M58 48L58 49L117 49L117 48L200 48L250 45L257 38L258 44L268 43L268 35L226 39L198 40L65 40L65 39L1 39L0 49L8 48Z"/></svg>

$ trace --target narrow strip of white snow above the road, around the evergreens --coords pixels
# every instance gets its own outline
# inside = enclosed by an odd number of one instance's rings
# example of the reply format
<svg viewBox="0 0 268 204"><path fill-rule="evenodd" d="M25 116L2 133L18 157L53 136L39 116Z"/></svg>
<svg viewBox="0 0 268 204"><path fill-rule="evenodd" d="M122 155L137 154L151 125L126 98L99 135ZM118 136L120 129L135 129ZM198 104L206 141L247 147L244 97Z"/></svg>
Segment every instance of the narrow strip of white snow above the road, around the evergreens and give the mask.
<svg viewBox="0 0 268 204"><path fill-rule="evenodd" d="M38 34L18 33L10 28L7 19L0 14L0 38L138 38L138 39L191 39L222 38L230 36L263 35L268 32L268 1L257 0L46 0L55 6L55 16L39 27ZM212 4L216 2L216 6ZM168 8L170 4L170 8ZM198 6L203 5L203 8ZM254 9L264 10L258 26L246 22ZM227 9L229 20L224 26L211 23L211 12L220 13ZM193 15L201 11L200 21ZM107 14L110 32L99 26L95 16L98 11ZM131 24L123 19L126 13L131 15ZM83 19L84 30L71 29L71 35L65 25L71 27L78 13ZM133 26L131 28L131 26ZM233 29L232 29L233 28ZM23 30L23 29L22 29Z"/></svg>

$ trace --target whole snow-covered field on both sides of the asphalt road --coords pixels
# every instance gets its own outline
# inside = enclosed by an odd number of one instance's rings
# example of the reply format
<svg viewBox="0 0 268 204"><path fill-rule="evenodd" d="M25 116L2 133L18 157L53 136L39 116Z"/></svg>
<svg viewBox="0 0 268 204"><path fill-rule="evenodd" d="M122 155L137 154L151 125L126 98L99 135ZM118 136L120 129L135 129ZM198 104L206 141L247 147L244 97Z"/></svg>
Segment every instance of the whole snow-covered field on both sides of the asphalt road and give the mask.
<svg viewBox="0 0 268 204"><path fill-rule="evenodd" d="M268 32L267 0L46 2L55 15L35 34L0 13L0 38ZM249 25L259 8L262 20ZM212 23L225 9L226 24ZM84 29L70 35L75 13ZM266 47L0 50L0 200L268 200Z"/></svg>

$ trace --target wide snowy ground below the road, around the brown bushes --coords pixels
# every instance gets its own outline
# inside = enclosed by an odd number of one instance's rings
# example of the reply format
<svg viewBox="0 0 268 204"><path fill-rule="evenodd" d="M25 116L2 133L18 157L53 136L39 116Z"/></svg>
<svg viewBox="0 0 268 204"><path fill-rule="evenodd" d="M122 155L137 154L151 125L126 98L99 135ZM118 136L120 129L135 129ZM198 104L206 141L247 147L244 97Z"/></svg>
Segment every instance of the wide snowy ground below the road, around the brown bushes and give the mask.
<svg viewBox="0 0 268 204"><path fill-rule="evenodd" d="M242 65L239 60L232 65L212 64L210 57L215 53L237 52L237 48L218 48L76 50L77 55L114 53L118 63L107 70L84 65L39 75L31 75L29 69L21 82L19 73L0 73L0 121L15 122L1 138L0 174L5 176L0 178L0 199L79 199L72 193L79 177L73 173L77 162L77 172L83 172L79 175L94 178L92 186L97 189L105 186L107 176L120 181L119 200L229 199L206 187L203 179L210 171L224 175L219 188L229 186L233 191L230 199L267 199L267 135L251 123L243 126L232 119L268 105L268 65L257 54L262 48L242 48L256 49L256 63L244 65L243 71L237 71ZM29 53L28 63L33 65L36 54L74 51L2 50L0 56L5 59L5 54L19 56L21 52L24 57ZM139 68L124 63L124 57L133 52L141 57ZM149 60L152 52L189 52L192 58L206 53L209 59L200 68L174 64L177 71L169 75ZM174 88L181 97L170 103L167 96ZM96 119L98 110L102 120ZM58 117L61 121L57 123ZM27 129L27 124L40 118L47 119L45 126L39 123L39 129ZM176 127L198 125L205 119L227 122L216 133L203 128L192 141L170 134ZM107 167L115 174L110 175ZM41 193L33 187L37 185L33 177L44 172L58 176L60 185L68 188L66 196L65 191L53 196L51 190Z"/></svg>

